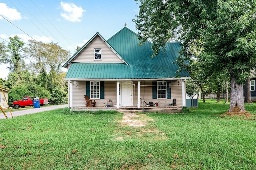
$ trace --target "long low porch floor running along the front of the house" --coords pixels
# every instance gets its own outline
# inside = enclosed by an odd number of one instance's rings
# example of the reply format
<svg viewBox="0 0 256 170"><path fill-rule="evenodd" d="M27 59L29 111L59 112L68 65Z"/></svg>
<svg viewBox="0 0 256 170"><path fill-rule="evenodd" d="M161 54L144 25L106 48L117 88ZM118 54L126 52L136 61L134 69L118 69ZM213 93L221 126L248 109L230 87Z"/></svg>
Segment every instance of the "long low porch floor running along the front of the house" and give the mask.
<svg viewBox="0 0 256 170"><path fill-rule="evenodd" d="M143 108L141 107L138 109L137 107L73 107L70 109L71 111L99 111L99 110L114 110L120 113L124 112L143 112ZM145 107L144 112L148 113L181 113L182 112L182 105L180 106L157 106L157 107Z"/></svg>

